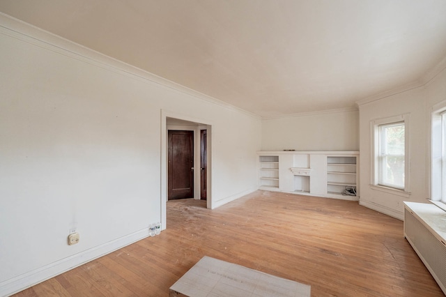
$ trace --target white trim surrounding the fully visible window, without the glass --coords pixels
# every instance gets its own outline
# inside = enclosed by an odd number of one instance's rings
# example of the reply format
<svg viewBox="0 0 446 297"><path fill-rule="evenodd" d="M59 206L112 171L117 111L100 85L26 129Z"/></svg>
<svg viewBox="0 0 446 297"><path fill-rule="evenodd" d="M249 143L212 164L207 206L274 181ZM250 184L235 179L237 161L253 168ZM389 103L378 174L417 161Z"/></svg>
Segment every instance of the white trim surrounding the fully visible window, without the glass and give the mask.
<svg viewBox="0 0 446 297"><path fill-rule="evenodd" d="M404 189L397 189L379 185L378 173L378 152L379 152L379 125L404 122ZM410 114L401 114L399 116L390 116L387 118L374 119L370 121L370 143L371 143L371 165L370 165L370 187L373 190L387 192L393 195L410 197Z"/></svg>

